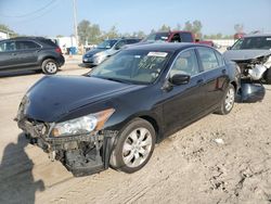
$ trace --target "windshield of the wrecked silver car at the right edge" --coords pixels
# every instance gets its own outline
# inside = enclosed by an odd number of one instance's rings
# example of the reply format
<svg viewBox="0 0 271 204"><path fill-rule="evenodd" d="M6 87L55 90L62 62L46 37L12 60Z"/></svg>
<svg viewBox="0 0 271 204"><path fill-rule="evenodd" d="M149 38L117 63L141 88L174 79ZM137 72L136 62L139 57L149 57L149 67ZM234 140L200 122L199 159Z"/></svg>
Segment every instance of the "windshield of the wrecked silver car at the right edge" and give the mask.
<svg viewBox="0 0 271 204"><path fill-rule="evenodd" d="M247 37L238 39L232 50L269 50L271 49L270 37Z"/></svg>

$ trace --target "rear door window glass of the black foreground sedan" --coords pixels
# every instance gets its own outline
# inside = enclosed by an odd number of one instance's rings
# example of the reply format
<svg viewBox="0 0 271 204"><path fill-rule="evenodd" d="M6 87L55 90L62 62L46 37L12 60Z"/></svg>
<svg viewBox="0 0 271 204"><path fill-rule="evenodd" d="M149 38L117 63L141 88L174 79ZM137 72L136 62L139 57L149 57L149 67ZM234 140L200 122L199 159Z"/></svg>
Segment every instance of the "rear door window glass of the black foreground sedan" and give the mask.
<svg viewBox="0 0 271 204"><path fill-rule="evenodd" d="M209 48L198 48L199 59L203 63L204 71L210 71L219 67L217 56L212 49Z"/></svg>

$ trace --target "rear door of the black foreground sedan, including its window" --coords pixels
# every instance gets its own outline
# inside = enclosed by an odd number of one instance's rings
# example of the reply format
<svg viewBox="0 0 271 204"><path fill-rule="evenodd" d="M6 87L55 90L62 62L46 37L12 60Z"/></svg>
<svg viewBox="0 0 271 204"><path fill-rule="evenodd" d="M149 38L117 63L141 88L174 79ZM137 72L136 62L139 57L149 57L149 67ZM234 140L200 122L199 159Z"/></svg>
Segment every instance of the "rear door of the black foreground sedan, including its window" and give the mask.
<svg viewBox="0 0 271 204"><path fill-rule="evenodd" d="M229 84L227 67L220 53L211 48L198 47L198 59L204 71L205 79L205 109L221 102L224 89Z"/></svg>

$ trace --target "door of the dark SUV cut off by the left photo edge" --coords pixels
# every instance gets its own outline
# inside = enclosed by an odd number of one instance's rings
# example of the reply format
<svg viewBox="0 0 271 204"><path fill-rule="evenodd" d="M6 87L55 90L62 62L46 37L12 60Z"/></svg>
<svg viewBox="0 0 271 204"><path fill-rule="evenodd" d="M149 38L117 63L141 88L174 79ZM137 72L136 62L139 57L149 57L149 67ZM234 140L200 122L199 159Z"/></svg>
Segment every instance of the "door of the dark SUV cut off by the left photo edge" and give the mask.
<svg viewBox="0 0 271 204"><path fill-rule="evenodd" d="M16 64L15 41L0 42L0 71L12 68Z"/></svg>

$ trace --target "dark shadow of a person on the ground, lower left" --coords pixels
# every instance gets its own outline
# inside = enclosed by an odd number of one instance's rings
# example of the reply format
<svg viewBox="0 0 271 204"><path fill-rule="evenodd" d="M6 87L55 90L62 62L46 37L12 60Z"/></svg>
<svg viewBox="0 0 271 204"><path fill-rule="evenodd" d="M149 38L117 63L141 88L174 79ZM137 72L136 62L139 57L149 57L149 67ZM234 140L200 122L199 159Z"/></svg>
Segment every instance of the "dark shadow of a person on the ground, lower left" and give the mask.
<svg viewBox="0 0 271 204"><path fill-rule="evenodd" d="M37 190L43 191L42 180L35 181L34 163L25 152L28 144L24 133L17 143L5 146L0 164L0 203L35 203Z"/></svg>

